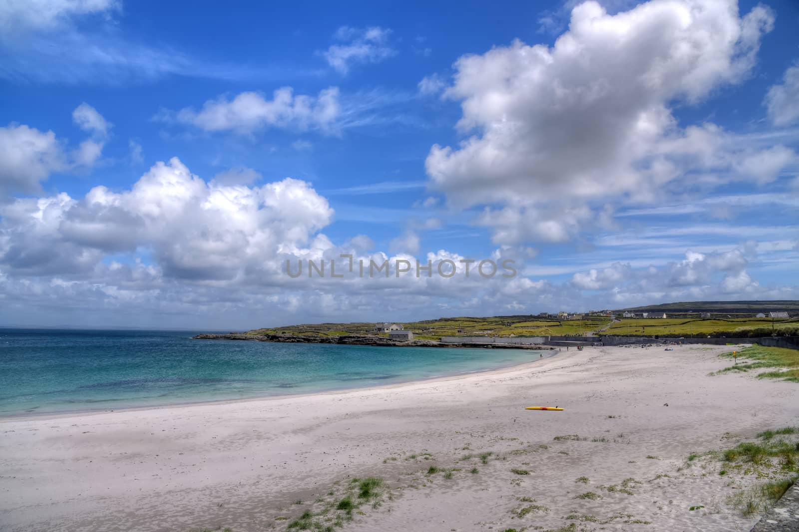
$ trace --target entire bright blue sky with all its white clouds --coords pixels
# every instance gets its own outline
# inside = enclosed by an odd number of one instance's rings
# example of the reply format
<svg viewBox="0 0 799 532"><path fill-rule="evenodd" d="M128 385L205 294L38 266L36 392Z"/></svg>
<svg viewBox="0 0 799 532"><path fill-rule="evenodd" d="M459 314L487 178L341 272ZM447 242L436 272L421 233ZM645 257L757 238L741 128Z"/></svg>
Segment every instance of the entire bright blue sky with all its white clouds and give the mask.
<svg viewBox="0 0 799 532"><path fill-rule="evenodd" d="M795 0L6 0L0 326L799 299L797 26Z"/></svg>

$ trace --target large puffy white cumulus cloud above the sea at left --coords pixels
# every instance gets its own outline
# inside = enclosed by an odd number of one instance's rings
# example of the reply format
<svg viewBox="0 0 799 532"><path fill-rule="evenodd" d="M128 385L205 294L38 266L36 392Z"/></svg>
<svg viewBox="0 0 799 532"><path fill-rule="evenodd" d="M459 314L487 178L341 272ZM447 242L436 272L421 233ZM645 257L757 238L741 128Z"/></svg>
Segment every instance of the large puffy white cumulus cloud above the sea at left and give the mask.
<svg viewBox="0 0 799 532"><path fill-rule="evenodd" d="M332 209L304 181L206 183L173 158L127 191L18 199L0 216L0 264L11 272L89 274L107 253L148 248L165 276L232 280L279 272L276 257L308 244Z"/></svg>

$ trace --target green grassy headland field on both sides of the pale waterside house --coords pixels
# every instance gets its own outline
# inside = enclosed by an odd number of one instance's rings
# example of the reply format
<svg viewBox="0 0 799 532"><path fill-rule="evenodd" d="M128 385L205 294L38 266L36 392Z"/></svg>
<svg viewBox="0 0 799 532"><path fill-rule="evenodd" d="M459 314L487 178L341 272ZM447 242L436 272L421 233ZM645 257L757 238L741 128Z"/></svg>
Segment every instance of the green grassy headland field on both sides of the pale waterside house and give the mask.
<svg viewBox="0 0 799 532"><path fill-rule="evenodd" d="M401 323L401 322L397 322ZM494 318L441 318L402 323L417 339L440 339L442 336L550 336L583 335L610 323L609 318L596 317L586 320L542 320L534 316L498 316ZM293 334L332 336L344 334L371 334L375 324L313 324L289 327L264 328L248 331L248 334Z"/></svg>

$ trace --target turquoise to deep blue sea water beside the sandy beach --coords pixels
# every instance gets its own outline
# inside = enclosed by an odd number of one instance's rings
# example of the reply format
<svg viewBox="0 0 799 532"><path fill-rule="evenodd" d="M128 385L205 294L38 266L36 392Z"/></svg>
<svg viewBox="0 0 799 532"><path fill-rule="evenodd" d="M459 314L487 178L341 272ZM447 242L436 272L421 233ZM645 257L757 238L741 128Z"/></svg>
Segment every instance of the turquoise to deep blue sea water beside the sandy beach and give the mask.
<svg viewBox="0 0 799 532"><path fill-rule="evenodd" d="M0 415L368 387L511 366L542 352L201 340L194 334L0 328Z"/></svg>

